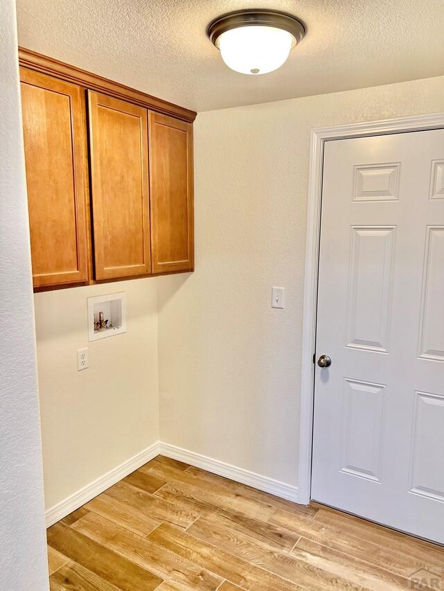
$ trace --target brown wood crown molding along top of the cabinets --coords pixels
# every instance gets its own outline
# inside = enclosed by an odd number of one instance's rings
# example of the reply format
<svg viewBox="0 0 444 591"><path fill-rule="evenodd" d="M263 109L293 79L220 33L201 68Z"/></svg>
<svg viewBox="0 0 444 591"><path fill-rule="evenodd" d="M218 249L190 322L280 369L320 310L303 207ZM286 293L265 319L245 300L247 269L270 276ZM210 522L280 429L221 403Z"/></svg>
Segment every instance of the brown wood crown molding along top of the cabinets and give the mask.
<svg viewBox="0 0 444 591"><path fill-rule="evenodd" d="M112 80L108 80L108 78L97 76L94 73L70 66L64 62L53 60L53 58L48 58L46 55L36 53L30 49L19 47L19 63L22 67L49 74L67 82L74 82L77 85L99 91L114 98L129 100L136 105L153 109L158 113L167 114L182 121L192 123L197 115L196 112L185 109L185 107L155 98L155 96L151 96L150 94L121 85L119 82L113 82Z"/></svg>

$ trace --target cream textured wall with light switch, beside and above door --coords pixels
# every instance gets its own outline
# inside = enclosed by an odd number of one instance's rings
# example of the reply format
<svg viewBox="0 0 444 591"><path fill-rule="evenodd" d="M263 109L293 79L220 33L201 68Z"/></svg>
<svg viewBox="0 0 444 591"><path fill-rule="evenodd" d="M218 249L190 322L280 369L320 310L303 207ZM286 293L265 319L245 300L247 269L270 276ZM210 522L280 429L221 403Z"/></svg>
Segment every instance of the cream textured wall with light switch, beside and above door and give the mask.
<svg viewBox="0 0 444 591"><path fill-rule="evenodd" d="M310 129L440 111L444 78L199 114L196 272L159 279L162 441L298 484Z"/></svg>

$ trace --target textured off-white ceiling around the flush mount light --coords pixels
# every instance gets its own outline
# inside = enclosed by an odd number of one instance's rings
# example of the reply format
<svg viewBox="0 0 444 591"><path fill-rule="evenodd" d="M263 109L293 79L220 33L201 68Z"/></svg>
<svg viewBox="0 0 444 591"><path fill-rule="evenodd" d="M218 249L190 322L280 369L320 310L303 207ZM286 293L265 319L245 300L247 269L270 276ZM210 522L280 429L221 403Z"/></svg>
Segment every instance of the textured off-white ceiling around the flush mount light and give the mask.
<svg viewBox="0 0 444 591"><path fill-rule="evenodd" d="M241 8L300 18L264 76L228 69L205 35ZM444 74L443 0L17 0L19 43L197 111Z"/></svg>

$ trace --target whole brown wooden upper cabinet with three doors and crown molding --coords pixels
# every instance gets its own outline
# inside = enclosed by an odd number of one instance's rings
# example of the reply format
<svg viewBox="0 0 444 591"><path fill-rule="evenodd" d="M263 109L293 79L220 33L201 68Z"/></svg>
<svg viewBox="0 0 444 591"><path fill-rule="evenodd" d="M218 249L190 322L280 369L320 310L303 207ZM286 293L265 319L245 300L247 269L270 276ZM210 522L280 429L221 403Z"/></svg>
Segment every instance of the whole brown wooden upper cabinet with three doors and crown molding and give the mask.
<svg viewBox="0 0 444 591"><path fill-rule="evenodd" d="M196 113L24 48L19 63L35 288L194 270Z"/></svg>

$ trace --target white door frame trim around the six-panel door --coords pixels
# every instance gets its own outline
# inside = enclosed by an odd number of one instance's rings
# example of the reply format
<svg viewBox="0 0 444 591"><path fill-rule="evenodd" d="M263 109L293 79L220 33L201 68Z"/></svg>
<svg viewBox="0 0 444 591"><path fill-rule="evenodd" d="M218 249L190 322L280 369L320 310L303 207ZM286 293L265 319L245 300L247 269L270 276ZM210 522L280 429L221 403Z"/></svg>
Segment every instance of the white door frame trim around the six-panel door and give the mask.
<svg viewBox="0 0 444 591"><path fill-rule="evenodd" d="M308 504L311 495L311 446L313 443L314 363L316 346L316 301L319 240L321 237L321 197L324 144L332 139L434 130L444 127L444 114L402 117L352 123L311 130L307 243L302 329L302 380L300 390L300 439L298 502Z"/></svg>

